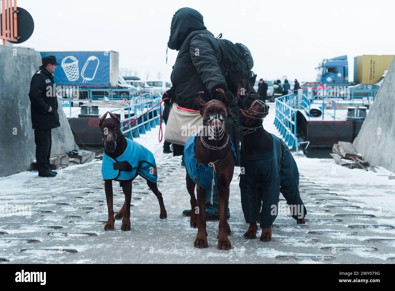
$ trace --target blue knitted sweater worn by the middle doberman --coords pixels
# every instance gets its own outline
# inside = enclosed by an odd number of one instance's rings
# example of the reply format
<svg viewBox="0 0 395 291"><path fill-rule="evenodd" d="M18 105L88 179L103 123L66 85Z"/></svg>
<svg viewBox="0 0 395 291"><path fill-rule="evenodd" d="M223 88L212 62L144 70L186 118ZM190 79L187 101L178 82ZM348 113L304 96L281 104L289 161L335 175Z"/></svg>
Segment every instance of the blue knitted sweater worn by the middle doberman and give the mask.
<svg viewBox="0 0 395 291"><path fill-rule="evenodd" d="M190 178L197 184L200 185L200 187L204 189L211 189L211 181L213 180L213 168L211 166L206 166L203 163L200 163L198 165L198 160L195 157L195 141L196 141L196 136L191 136L188 138L188 140L185 143L184 146L184 162L185 162L185 167L186 170L188 171L188 175ZM237 161L237 156L235 152L235 148L233 147L232 140L229 136L229 141L230 141L230 147L232 150L232 153L235 157L235 163ZM215 161L213 161L215 162ZM195 177L198 181L195 180ZM217 187L217 176L214 172L214 192L217 192L218 187Z"/></svg>

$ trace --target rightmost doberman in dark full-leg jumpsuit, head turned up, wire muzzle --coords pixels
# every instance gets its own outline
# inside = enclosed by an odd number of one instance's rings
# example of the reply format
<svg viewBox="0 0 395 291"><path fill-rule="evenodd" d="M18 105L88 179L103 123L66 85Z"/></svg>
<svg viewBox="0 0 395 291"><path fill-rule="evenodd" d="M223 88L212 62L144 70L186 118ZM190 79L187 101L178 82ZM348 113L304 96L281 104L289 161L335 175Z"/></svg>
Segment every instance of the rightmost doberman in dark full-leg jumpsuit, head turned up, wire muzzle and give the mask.
<svg viewBox="0 0 395 291"><path fill-rule="evenodd" d="M256 238L260 221L260 240L271 240L271 225L278 214L280 192L291 209L297 224L305 223L306 208L299 193L299 171L288 146L263 128L269 106L261 96L245 93L239 82L237 105L243 128L241 144L240 192L241 206L247 223L246 238Z"/></svg>

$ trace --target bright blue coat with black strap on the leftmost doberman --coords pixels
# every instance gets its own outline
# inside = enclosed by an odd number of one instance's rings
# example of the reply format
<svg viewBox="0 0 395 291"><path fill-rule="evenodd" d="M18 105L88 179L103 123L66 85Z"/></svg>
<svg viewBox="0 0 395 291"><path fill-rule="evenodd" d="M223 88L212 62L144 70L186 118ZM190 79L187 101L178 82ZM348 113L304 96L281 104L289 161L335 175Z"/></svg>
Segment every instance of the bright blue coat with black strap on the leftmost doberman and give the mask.
<svg viewBox="0 0 395 291"><path fill-rule="evenodd" d="M126 138L125 151L113 159L103 153L102 176L103 180L124 181L135 178L140 174L145 179L156 183L156 163L154 155L137 142Z"/></svg>

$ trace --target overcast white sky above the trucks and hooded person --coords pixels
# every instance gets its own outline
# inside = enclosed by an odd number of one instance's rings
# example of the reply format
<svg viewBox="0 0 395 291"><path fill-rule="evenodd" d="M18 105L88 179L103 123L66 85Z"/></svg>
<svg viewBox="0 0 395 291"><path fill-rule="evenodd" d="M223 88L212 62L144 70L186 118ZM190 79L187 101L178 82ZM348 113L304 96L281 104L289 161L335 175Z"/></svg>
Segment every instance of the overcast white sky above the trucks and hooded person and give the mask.
<svg viewBox="0 0 395 291"><path fill-rule="evenodd" d="M177 52L166 46L177 9L188 6L217 36L247 45L258 78L315 81L323 58L395 54L393 1L18 0L34 32L21 44L39 51L119 52L119 66L170 79Z"/></svg>

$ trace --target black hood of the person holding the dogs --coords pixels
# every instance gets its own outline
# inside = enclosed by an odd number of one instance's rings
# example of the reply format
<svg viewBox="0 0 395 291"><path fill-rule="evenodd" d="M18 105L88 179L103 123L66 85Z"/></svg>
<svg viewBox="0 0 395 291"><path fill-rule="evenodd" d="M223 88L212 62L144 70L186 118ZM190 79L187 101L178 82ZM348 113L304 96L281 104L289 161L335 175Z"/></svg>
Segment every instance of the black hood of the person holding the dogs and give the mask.
<svg viewBox="0 0 395 291"><path fill-rule="evenodd" d="M178 9L171 19L170 37L167 46L178 51L186 37L195 30L206 29L203 16L195 9L184 7Z"/></svg>

